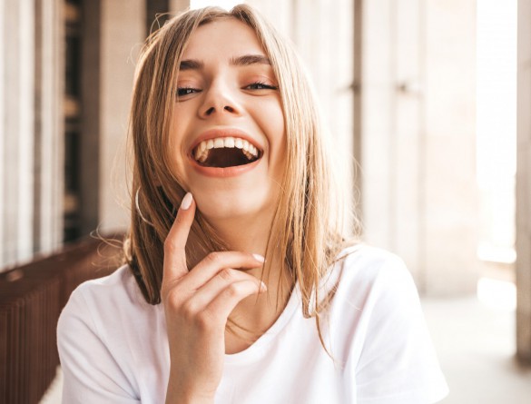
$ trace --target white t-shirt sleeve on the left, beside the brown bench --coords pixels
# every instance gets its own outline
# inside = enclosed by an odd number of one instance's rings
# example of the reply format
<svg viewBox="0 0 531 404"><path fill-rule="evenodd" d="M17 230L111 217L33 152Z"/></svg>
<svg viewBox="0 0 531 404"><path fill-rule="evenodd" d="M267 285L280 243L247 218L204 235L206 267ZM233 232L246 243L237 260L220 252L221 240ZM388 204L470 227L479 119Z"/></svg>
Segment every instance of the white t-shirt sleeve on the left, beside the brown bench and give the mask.
<svg viewBox="0 0 531 404"><path fill-rule="evenodd" d="M57 346L64 373L63 402L139 403L128 378L99 334L84 300L74 291L57 325Z"/></svg>

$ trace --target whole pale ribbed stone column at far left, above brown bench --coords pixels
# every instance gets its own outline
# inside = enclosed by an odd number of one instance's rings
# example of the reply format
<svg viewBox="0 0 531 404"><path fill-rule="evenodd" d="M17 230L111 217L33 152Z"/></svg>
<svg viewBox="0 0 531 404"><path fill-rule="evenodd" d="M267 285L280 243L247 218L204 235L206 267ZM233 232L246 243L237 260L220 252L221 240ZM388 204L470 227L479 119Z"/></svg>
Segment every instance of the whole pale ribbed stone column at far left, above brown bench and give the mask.
<svg viewBox="0 0 531 404"><path fill-rule="evenodd" d="M0 2L0 268L62 238L62 10Z"/></svg>

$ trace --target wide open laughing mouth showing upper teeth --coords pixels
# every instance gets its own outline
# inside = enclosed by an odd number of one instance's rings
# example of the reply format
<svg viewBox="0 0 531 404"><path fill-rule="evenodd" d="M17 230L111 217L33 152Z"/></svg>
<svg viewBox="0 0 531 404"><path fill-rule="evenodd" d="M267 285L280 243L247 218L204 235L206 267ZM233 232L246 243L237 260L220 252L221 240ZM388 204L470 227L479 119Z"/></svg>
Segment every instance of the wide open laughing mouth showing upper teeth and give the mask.
<svg viewBox="0 0 531 404"><path fill-rule="evenodd" d="M239 137L218 137L202 141L192 149L193 159L202 167L235 167L256 162L261 150Z"/></svg>

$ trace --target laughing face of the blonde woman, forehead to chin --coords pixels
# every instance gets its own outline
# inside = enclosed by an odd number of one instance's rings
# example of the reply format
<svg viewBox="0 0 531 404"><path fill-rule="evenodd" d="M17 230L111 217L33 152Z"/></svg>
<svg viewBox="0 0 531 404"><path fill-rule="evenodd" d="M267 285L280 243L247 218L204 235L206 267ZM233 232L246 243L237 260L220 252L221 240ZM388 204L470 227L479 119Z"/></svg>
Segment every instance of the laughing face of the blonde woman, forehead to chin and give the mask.
<svg viewBox="0 0 531 404"><path fill-rule="evenodd" d="M200 26L182 55L172 116L172 170L213 221L266 220L285 166L278 82L252 29Z"/></svg>

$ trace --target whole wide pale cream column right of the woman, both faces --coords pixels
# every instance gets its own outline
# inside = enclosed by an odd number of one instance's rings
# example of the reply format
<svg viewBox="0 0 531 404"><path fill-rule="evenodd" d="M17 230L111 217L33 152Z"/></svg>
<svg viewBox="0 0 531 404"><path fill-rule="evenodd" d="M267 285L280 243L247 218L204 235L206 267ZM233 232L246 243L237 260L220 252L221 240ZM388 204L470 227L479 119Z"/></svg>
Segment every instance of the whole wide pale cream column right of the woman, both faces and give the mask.
<svg viewBox="0 0 531 404"><path fill-rule="evenodd" d="M363 3L362 211L418 288L473 292L475 0Z"/></svg>

